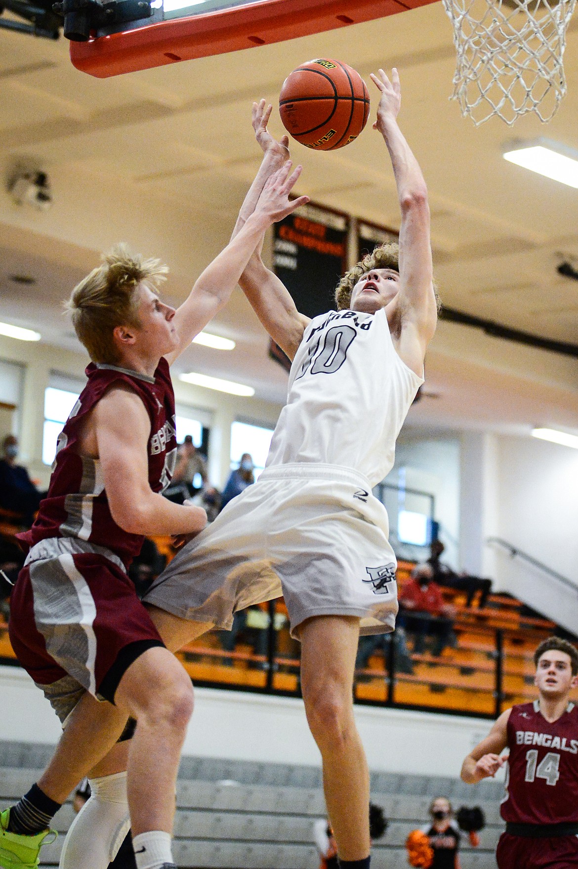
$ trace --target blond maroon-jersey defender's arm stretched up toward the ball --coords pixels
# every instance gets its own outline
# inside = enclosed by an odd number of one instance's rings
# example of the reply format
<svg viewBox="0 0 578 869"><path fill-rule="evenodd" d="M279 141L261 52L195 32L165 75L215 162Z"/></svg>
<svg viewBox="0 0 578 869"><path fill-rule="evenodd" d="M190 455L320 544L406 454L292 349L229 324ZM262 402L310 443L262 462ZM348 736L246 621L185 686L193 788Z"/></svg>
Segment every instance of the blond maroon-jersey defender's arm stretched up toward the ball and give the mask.
<svg viewBox="0 0 578 869"><path fill-rule="evenodd" d="M174 362L188 347L194 335L227 304L249 257L260 244L266 229L309 201L306 196L289 199L292 187L301 173L300 166L293 172L291 169L291 161L286 161L268 177L253 214L247 217L227 247L197 278L187 301L177 309L174 326L179 335L179 345L176 350L167 354L169 364Z"/></svg>

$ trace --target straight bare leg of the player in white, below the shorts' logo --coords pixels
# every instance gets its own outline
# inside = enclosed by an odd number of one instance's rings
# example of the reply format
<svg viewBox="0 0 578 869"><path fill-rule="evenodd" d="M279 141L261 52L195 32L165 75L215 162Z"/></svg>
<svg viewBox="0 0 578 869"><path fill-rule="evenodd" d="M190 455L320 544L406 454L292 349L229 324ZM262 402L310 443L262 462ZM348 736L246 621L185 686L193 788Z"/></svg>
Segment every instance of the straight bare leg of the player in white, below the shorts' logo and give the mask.
<svg viewBox="0 0 578 869"><path fill-rule="evenodd" d="M342 860L370 852L369 773L353 718L359 620L317 616L300 627L305 713L323 759L325 802Z"/></svg>

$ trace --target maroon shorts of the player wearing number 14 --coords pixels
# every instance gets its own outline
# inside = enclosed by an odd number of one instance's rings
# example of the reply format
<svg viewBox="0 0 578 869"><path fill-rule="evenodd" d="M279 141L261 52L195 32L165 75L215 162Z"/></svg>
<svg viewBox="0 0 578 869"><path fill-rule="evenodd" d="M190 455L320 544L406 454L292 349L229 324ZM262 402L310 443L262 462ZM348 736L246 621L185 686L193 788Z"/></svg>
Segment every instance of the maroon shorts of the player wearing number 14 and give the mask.
<svg viewBox="0 0 578 869"><path fill-rule="evenodd" d="M577 869L578 836L528 839L502 833L496 861L499 869Z"/></svg>

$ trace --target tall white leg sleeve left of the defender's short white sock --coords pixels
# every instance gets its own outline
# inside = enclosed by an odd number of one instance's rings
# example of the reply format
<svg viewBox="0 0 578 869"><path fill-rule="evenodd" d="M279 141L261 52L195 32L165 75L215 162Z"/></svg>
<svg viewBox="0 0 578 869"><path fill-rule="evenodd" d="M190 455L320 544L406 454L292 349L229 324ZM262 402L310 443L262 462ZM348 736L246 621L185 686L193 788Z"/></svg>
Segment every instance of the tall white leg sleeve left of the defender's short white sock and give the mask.
<svg viewBox="0 0 578 869"><path fill-rule="evenodd" d="M60 869L108 869L130 828L127 773L89 779L92 795L70 825Z"/></svg>

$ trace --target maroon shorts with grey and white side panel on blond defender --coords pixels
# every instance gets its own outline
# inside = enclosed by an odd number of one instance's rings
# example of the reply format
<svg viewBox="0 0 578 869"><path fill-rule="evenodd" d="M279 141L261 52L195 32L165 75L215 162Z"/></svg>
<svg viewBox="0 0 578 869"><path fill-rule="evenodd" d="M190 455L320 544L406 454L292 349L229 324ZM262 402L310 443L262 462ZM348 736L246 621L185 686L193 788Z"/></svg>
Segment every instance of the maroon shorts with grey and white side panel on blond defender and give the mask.
<svg viewBox="0 0 578 869"><path fill-rule="evenodd" d="M30 549L10 600L10 642L62 723L85 691L113 703L133 661L164 646L120 558L72 537Z"/></svg>

